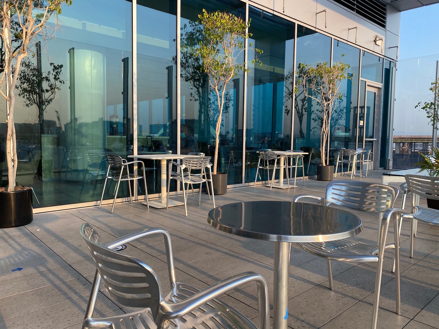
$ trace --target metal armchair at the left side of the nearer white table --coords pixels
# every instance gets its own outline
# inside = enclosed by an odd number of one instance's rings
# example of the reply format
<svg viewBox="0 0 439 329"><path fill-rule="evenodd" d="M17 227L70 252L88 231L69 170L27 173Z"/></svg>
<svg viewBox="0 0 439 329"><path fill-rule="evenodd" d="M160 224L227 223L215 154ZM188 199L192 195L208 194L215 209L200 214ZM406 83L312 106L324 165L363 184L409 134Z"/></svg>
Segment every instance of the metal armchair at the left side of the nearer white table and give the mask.
<svg viewBox="0 0 439 329"><path fill-rule="evenodd" d="M120 182L122 181L130 181L130 180L138 180L143 179L144 185L145 185L145 197L146 197L146 203L149 209L149 202L148 202L148 189L146 186L146 176L145 176L145 167L144 163L140 160L138 161L131 161L127 162L125 159L122 159L119 157L119 155L116 154L105 154L108 161L108 169L107 174L105 175L105 182L104 182L104 188L102 189L102 195L101 195L101 201L99 202L99 208L101 207L102 200L104 199L104 192L105 192L105 186L107 185L107 179L112 179L114 181L117 181L116 190L114 193L114 199L113 199L113 206L111 208L111 213L113 213L114 210L114 204L116 202L117 193L119 192L119 186ZM143 176L136 175L136 174L130 174L130 169L128 166L130 164L140 164L140 167L142 168ZM126 169L126 173L124 173L124 169ZM131 187L130 183L128 183L128 190L130 191L130 200L131 203L133 203L133 195L131 193Z"/></svg>

